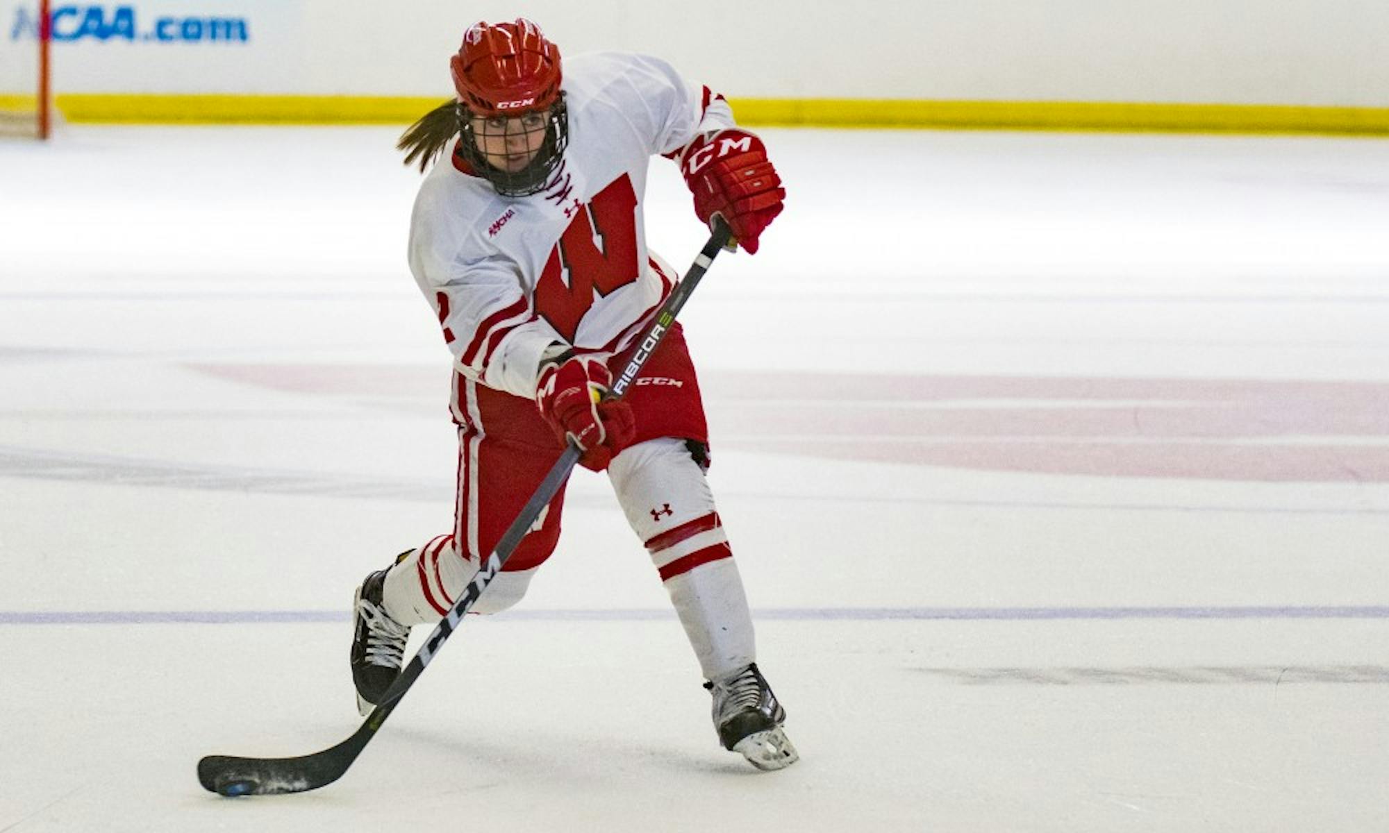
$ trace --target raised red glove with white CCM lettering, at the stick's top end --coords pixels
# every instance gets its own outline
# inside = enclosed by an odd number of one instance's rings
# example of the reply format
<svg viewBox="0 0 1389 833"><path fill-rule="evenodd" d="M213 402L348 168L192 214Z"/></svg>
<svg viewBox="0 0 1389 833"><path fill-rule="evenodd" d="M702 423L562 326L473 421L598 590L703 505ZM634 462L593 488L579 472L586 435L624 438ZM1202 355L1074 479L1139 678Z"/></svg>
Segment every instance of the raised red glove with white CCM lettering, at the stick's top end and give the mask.
<svg viewBox="0 0 1389 833"><path fill-rule="evenodd" d="M781 214L786 199L763 140L736 128L700 136L685 149L681 172L694 192L700 221L714 228L718 214L747 254L756 254L757 236Z"/></svg>

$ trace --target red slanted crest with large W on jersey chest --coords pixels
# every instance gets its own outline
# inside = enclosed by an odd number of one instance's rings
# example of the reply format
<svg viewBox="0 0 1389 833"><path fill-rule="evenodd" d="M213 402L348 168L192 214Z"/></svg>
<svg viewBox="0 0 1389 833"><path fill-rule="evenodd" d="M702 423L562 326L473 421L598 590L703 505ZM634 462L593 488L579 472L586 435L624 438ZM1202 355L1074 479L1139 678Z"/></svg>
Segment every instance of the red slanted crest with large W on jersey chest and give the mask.
<svg viewBox="0 0 1389 833"><path fill-rule="evenodd" d="M640 276L636 258L636 192L624 174L593 196L575 215L535 285L535 310L567 342L606 296Z"/></svg>

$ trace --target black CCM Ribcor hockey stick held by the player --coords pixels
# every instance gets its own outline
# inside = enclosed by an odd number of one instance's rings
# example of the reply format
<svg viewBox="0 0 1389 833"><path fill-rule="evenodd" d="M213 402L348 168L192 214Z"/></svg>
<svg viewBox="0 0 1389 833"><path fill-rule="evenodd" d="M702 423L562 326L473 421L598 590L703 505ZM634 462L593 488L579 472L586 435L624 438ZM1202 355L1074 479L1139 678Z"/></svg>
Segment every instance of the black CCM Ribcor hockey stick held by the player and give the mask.
<svg viewBox="0 0 1389 833"><path fill-rule="evenodd" d="M665 303L657 310L654 319L646 326L642 339L636 343L636 351L622 369L622 373L613 383L608 397L615 398L622 396L628 386L638 378L657 344L665 337L671 323L675 322L676 312L689 300L690 293L694 292L694 287L714 261L718 250L729 243L729 237L728 225L722 221L717 222L714 233L710 235L704 249L694 258L689 271L685 272L685 278L676 285L671 297L665 298ZM197 780L201 782L203 787L222 796L272 796L278 793L317 790L342 777L347 772L347 768L351 766L351 762L357 759L357 755L375 737L376 730L386 722L386 718L390 716L390 712L400 702L400 698L406 696L406 691L410 690L410 686L415 684L415 680L424 673L429 661L438 655L443 643L458 628L464 614L468 612L474 603L478 601L478 597L482 596L482 591L488 589L488 584L492 583L492 579L501 569L501 565L507 562L507 558L511 557L511 553L521 543L521 539L525 537L535 519L540 516L540 512L549 505L550 500L560 490L560 486L568 479L581 454L579 447L571 440L569 446L560 455L560 460L554 462L544 480L540 482L535 494L526 501L521 514L507 528L506 535L501 536L496 548L488 555L486 564L472 578L472 582L468 583L458 601L454 603L449 614L435 626L429 639L421 646L400 676L396 678L396 682L386 689L386 693L381 697L381 702L376 704L376 708L371 709L367 721L351 737L335 747L297 758L208 755L197 762Z"/></svg>

